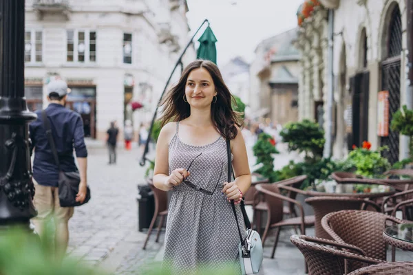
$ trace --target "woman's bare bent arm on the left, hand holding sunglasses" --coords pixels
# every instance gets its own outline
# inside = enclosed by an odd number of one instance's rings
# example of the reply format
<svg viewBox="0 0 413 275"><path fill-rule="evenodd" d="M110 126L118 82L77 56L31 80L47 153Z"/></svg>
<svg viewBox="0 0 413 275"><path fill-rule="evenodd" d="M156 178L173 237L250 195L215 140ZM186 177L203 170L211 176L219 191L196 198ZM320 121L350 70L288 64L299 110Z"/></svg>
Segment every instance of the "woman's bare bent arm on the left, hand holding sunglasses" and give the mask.
<svg viewBox="0 0 413 275"><path fill-rule="evenodd" d="M162 127L156 142L155 168L153 169L153 185L164 191L178 186L184 178L189 176L187 170L181 168L173 170L169 175L169 142L176 131L176 123L168 123Z"/></svg>

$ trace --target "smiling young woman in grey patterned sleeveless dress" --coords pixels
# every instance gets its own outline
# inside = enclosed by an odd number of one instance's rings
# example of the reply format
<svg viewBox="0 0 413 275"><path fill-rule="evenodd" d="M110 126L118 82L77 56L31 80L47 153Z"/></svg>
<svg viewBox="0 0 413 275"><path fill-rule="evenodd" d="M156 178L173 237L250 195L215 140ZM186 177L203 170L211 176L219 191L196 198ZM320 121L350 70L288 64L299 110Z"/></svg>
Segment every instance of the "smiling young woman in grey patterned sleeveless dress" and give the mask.
<svg viewBox="0 0 413 275"><path fill-rule="evenodd" d="M251 185L240 118L218 67L193 61L162 102L164 125L156 144L153 184L172 190L165 236L164 267L173 274L237 268L244 227L239 203ZM226 139L231 140L235 180L227 183ZM241 230L244 234L245 230Z"/></svg>

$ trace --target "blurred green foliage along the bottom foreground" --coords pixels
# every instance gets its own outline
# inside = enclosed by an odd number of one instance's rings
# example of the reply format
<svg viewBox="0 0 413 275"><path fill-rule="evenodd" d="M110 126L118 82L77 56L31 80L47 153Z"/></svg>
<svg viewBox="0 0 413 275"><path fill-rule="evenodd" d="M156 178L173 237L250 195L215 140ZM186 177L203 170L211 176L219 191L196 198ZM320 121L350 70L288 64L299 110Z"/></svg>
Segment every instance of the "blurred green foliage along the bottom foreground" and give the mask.
<svg viewBox="0 0 413 275"><path fill-rule="evenodd" d="M73 256L66 256L63 261L54 256L54 224L49 221L40 241L39 236L10 228L0 231L0 274L1 275L109 275L98 267L87 266L86 263ZM199 267L188 274L239 274L233 264L222 265L220 270L208 266ZM168 275L169 270L162 269L162 263L151 259L136 259L136 266L131 272L140 275ZM193 271L193 270L191 270ZM129 274L129 273L128 273ZM131 273L132 274L132 273Z"/></svg>

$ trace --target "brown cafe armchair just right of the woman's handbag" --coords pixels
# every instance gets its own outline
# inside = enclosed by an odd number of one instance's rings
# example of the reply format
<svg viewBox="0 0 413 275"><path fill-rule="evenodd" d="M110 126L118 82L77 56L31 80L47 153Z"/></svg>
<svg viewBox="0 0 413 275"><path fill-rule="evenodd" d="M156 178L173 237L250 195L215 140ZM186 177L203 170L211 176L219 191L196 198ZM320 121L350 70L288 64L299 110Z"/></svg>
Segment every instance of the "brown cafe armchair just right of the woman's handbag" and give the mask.
<svg viewBox="0 0 413 275"><path fill-rule="evenodd" d="M255 186L259 195L264 196L265 202L268 208L268 219L264 234L262 235L262 243L264 244L268 231L275 228L275 242L273 245L273 252L271 253L271 259L274 259L275 249L277 248L279 232L284 226L299 226L301 234L306 234L306 227L313 226L314 221L306 219L304 216L304 209L298 201L290 199L279 194L279 188L277 183L275 184L257 184ZM284 201L294 203L299 210L298 217L283 219L284 214L282 212L282 206Z"/></svg>

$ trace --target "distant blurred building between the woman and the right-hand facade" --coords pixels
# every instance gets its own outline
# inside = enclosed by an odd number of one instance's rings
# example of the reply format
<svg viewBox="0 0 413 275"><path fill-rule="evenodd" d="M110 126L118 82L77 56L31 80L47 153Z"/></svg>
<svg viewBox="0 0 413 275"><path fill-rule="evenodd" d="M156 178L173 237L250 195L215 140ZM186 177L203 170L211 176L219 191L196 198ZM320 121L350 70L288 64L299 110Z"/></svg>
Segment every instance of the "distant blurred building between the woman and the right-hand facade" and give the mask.
<svg viewBox="0 0 413 275"><path fill-rule="evenodd" d="M252 118L271 118L277 124L298 119L300 55L297 29L262 41L250 68Z"/></svg>

